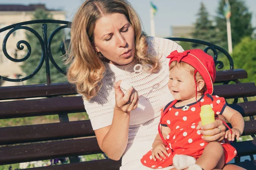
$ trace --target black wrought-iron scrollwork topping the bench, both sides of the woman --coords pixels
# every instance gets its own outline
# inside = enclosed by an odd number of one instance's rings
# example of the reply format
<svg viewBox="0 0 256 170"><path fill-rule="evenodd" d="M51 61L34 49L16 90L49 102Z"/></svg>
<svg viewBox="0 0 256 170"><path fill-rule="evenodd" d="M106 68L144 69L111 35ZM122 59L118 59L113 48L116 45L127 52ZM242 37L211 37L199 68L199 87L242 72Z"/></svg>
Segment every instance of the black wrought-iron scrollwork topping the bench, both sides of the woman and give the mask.
<svg viewBox="0 0 256 170"><path fill-rule="evenodd" d="M28 27L28 25L31 24L35 24L35 23L41 23L42 24L42 31L43 31L43 37L40 36L40 34L38 34L38 32L36 32L34 29ZM51 35L49 36L49 39L47 40L47 23L56 23L56 24L64 24L63 26L59 26L58 28L56 28ZM26 25L26 26L25 26ZM14 32L17 31L19 29L25 29L28 30L30 32L32 32L39 40L40 45L41 45L41 49L42 49L42 54L41 54L41 59L40 62L37 66L37 68L35 68L35 70L29 74L26 77L23 78L19 78L19 79L9 79L7 77L2 77L0 76L0 79L3 79L5 81L10 81L10 82L21 82L27 79L32 78L33 76L35 76L35 74L38 73L38 71L41 69L42 65L44 64L44 62L46 62L46 67L47 67L47 82L50 83L50 73L49 73L49 61L52 62L52 64L55 66L56 69L58 69L58 71L60 71L62 74L66 74L66 71L61 69L60 66L57 65L57 63L55 62L53 56L52 56L52 51L51 51L51 43L52 43L52 39L55 36L55 34L58 33L58 31L61 31L64 28L69 28L69 26L71 25L70 22L68 21L61 21L61 20L32 20L32 21L26 21L26 22L22 22L22 23L16 23L10 26L6 26L5 28L1 28L0 29L0 33L6 30L10 30L4 40L3 40L3 53L6 56L6 58L8 58L9 60L13 61L13 62L23 62L26 61L30 55L31 55L31 46L29 45L29 42L27 42L26 40L20 40L17 42L17 49L18 50L23 50L24 49L24 45L26 45L27 47L27 53L26 56L21 58L21 59L15 59L14 57L11 57L6 50L6 42L8 40L8 38L10 37L10 35ZM192 42L192 43L198 43L198 44L202 44L202 45L207 45L208 47L204 49L205 52L212 50L213 54L214 54L214 61L215 61L215 65L218 69L221 69L224 67L223 62L218 61L218 51L221 51L229 60L230 62L230 69L234 68L234 64L233 64L233 59L231 58L230 54L228 54L228 52L226 50L224 50L223 48L214 45L212 43L209 42L205 42L205 41L201 41L201 40L195 40L195 39L187 39L187 38L167 38L169 40L173 40L173 41L184 41L184 42ZM69 44L70 40L64 40L60 47L61 47L61 52L62 54L66 54L66 49L64 47L64 44Z"/></svg>

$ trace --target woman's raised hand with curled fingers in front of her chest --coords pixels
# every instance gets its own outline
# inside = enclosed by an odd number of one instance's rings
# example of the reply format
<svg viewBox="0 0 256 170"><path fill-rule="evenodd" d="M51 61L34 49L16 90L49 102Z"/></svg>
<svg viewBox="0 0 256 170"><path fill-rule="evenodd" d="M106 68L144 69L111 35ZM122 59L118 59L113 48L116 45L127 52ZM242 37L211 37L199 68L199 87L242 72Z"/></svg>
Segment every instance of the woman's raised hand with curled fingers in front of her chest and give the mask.
<svg viewBox="0 0 256 170"><path fill-rule="evenodd" d="M119 80L115 83L115 96L116 96L116 108L125 113L131 112L136 109L139 102L139 96L137 91L134 88L128 89L124 94L120 88L122 80Z"/></svg>

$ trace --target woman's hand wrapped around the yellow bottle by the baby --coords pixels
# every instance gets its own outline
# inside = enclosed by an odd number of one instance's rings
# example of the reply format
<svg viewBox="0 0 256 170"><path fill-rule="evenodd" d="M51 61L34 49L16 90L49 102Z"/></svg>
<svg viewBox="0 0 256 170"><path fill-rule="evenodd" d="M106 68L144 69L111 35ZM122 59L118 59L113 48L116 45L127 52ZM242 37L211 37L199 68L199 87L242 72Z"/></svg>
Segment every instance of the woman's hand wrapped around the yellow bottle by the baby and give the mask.
<svg viewBox="0 0 256 170"><path fill-rule="evenodd" d="M222 120L225 121L225 118L222 115L218 115L217 117L218 119L216 119L215 122L208 125L202 126L201 121L198 122L196 129L201 129L201 134L207 135L202 136L202 139L204 139L206 142L221 141L224 139L226 126L223 124Z"/></svg>

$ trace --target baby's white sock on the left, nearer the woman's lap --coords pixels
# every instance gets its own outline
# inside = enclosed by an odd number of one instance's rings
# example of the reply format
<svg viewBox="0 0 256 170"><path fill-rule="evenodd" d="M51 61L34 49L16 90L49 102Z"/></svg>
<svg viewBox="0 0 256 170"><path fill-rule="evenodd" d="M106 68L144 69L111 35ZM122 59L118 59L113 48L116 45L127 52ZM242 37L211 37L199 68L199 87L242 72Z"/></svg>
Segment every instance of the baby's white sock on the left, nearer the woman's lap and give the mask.
<svg viewBox="0 0 256 170"><path fill-rule="evenodd" d="M177 170L183 170L192 164L195 164L195 158L188 155L175 155L172 159L173 165Z"/></svg>

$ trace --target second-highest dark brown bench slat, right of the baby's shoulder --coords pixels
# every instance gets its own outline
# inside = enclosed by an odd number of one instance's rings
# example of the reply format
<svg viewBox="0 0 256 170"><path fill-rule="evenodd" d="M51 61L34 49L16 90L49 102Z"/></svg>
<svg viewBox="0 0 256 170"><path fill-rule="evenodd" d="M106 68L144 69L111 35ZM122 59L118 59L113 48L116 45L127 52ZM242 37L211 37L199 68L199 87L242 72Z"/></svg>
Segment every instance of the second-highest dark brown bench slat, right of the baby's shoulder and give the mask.
<svg viewBox="0 0 256 170"><path fill-rule="evenodd" d="M225 99L256 96L256 86L254 82L214 85L214 94Z"/></svg>

